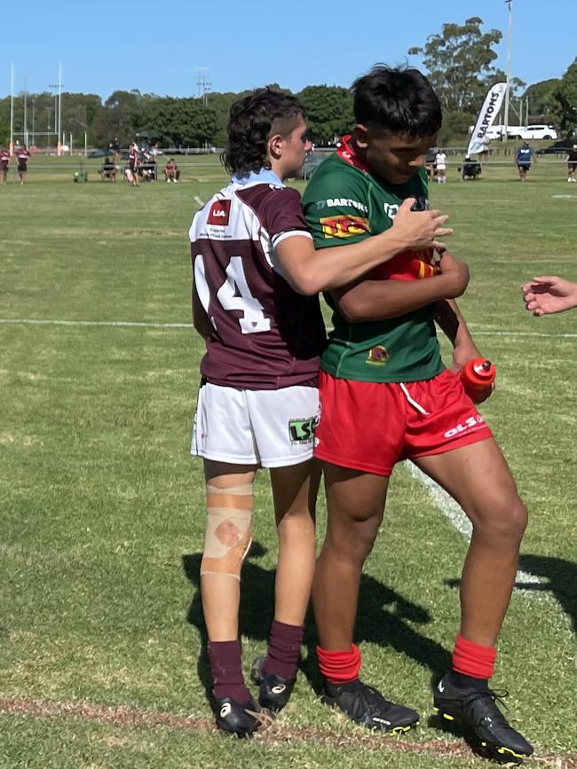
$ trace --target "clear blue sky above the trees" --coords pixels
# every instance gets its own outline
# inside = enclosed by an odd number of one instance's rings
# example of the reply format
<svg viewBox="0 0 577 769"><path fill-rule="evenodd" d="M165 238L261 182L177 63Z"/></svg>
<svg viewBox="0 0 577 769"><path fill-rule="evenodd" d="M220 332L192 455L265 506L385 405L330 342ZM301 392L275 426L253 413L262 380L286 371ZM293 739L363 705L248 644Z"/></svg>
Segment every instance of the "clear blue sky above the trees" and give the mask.
<svg viewBox="0 0 577 769"><path fill-rule="evenodd" d="M512 0L512 74L528 84L560 77L577 54L574 0ZM57 14L57 15L56 15ZM444 22L480 16L503 33L498 64L507 67L503 0L365 0L280 4L220 0L167 4L140 0L33 4L21 33L4 35L0 96L50 90L62 62L63 90L98 93L137 88L196 96L199 75L212 90L239 91L279 82L348 86L377 61L399 64ZM206 69L199 69L206 67Z"/></svg>

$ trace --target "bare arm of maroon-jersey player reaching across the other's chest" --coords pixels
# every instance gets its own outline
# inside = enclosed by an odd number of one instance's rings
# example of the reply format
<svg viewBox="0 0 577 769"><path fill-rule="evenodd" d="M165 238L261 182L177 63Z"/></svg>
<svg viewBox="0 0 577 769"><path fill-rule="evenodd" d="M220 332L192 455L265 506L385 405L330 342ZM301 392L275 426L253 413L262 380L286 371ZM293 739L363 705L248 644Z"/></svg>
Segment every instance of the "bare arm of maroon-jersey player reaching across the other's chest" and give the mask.
<svg viewBox="0 0 577 769"><path fill-rule="evenodd" d="M448 216L439 211L411 211L414 202L414 198L404 200L389 230L360 243L315 250L309 238L296 235L282 240L276 255L288 283L299 294L318 294L352 283L409 248L442 247L437 238L452 233L442 227Z"/></svg>

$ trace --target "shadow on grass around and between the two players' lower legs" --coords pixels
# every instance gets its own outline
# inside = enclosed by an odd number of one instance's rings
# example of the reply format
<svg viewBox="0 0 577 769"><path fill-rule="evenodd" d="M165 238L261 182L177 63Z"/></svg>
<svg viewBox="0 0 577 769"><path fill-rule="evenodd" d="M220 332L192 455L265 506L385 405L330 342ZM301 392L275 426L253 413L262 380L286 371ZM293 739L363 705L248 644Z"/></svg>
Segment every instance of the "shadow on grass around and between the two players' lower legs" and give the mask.
<svg viewBox="0 0 577 769"><path fill-rule="evenodd" d="M241 634L265 644L273 622L274 569L263 569L257 559L266 553L258 542L253 542L247 560L242 567L241 582ZM202 615L200 592L200 567L202 553L183 556L186 577L194 585L193 600L188 608L187 622L194 625L201 636L201 652L198 657L198 675L210 695L212 687L207 653L207 632ZM436 641L426 638L413 625L431 622L427 609L404 598L399 592L383 585L374 577L363 575L360 580L359 609L355 628L355 643L368 641L409 656L431 671L431 678L439 678L450 667L447 649ZM317 668L315 647L316 630L309 611L304 624L304 647L307 654L301 662L301 670L315 692L320 692L321 678ZM378 682L375 682L378 685Z"/></svg>

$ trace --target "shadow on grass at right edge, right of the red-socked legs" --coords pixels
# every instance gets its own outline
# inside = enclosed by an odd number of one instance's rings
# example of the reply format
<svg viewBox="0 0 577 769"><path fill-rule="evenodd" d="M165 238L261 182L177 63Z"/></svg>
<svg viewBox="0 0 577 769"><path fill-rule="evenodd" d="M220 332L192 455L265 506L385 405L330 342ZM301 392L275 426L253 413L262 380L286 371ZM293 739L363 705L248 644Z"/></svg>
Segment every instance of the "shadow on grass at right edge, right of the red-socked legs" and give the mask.
<svg viewBox="0 0 577 769"><path fill-rule="evenodd" d="M535 577L541 577L544 581L516 582L515 587L529 592L553 593L571 619L573 631L577 632L577 563L546 555L527 554L519 556L519 568ZM461 580L447 579L445 584L458 587Z"/></svg>

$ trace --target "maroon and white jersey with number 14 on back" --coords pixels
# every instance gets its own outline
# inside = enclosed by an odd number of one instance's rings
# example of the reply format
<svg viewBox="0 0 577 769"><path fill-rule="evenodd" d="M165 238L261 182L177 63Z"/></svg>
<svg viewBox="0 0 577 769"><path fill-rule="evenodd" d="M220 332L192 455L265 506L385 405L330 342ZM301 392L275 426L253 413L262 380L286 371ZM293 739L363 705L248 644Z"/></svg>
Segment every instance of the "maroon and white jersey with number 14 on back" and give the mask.
<svg viewBox="0 0 577 769"><path fill-rule="evenodd" d="M201 373L243 389L316 386L325 330L317 296L282 277L275 247L310 238L296 190L272 171L209 200L190 228L194 290L212 325Z"/></svg>

